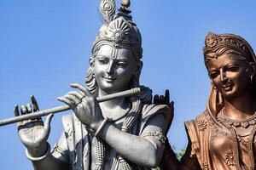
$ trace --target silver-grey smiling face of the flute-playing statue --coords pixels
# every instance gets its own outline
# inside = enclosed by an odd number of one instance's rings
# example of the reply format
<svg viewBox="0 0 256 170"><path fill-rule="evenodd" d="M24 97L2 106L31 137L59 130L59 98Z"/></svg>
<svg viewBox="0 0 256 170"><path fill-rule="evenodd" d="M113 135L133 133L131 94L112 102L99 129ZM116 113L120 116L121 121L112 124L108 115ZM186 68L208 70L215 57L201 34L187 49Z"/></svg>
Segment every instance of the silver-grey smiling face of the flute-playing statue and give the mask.
<svg viewBox="0 0 256 170"><path fill-rule="evenodd" d="M115 93L130 88L137 61L129 49L103 45L96 54L93 71L98 88Z"/></svg>

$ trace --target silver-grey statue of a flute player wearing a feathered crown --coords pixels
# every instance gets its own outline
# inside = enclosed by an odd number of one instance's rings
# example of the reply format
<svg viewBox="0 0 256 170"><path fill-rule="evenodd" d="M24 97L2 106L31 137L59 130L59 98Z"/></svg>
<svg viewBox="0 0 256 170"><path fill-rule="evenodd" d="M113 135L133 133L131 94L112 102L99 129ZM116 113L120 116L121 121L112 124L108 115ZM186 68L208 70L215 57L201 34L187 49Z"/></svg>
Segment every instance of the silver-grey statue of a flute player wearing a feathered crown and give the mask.
<svg viewBox="0 0 256 170"><path fill-rule="evenodd" d="M85 86L71 84L59 100L73 109L63 116L63 133L50 149L47 139L52 115L46 122L33 119L19 123L26 156L39 169L150 169L159 164L166 141L170 114L167 105L152 105L152 91L139 84L143 67L141 34L131 20L130 1L122 0L116 11L114 0L102 0L104 24L92 48ZM99 103L96 98L140 88L140 94ZM21 106L21 114L38 111ZM15 106L15 116L19 116Z"/></svg>

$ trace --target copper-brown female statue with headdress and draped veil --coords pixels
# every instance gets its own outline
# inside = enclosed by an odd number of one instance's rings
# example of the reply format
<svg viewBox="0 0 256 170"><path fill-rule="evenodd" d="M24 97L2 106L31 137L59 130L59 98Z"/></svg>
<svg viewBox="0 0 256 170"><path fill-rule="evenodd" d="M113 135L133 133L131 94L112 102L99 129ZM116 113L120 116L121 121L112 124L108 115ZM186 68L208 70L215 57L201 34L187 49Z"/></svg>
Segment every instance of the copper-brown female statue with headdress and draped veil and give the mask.
<svg viewBox="0 0 256 170"><path fill-rule="evenodd" d="M256 150L256 57L234 34L209 33L204 59L212 88L207 110L185 122L189 144L177 161L171 146L162 169L253 170ZM160 101L163 103L163 100Z"/></svg>

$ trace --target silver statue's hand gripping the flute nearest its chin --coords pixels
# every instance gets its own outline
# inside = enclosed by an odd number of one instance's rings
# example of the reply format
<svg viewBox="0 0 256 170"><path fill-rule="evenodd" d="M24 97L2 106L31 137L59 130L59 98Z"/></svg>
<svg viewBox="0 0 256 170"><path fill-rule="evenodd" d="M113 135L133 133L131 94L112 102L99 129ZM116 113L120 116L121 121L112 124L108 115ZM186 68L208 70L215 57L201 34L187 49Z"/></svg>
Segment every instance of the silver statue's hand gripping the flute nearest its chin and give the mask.
<svg viewBox="0 0 256 170"><path fill-rule="evenodd" d="M104 119L98 101L83 85L72 83L70 86L79 91L68 92L58 99L71 107L80 122L96 130Z"/></svg>

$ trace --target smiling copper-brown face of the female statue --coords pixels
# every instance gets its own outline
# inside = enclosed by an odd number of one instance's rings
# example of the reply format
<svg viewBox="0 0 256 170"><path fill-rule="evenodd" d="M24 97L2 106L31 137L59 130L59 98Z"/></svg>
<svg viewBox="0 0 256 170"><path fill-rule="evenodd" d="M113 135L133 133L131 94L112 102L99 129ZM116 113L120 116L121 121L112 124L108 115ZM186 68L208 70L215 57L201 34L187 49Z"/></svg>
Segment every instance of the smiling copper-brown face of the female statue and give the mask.
<svg viewBox="0 0 256 170"><path fill-rule="evenodd" d="M246 60L223 54L217 59L209 59L207 69L213 85L225 99L247 94L245 92L250 89Z"/></svg>

